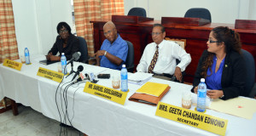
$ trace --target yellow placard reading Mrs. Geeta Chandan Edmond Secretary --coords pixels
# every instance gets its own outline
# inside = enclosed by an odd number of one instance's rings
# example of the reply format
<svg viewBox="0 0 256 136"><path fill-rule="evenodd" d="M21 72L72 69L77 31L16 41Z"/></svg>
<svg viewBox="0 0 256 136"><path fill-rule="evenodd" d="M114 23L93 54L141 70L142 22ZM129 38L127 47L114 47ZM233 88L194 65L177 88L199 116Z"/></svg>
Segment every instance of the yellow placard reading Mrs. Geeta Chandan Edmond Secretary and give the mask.
<svg viewBox="0 0 256 136"><path fill-rule="evenodd" d="M225 135L228 125L228 120L162 102L158 103L155 115L219 135Z"/></svg>

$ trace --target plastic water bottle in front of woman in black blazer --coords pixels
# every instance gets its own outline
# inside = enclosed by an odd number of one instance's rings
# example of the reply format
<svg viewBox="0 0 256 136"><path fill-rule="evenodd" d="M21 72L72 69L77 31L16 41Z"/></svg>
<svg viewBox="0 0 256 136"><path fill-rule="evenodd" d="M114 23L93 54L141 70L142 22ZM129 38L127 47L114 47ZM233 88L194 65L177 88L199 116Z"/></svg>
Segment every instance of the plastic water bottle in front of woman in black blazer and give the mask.
<svg viewBox="0 0 256 136"><path fill-rule="evenodd" d="M197 106L196 110L204 112L206 110L206 99L207 99L207 85L205 83L205 78L201 78L201 82L197 89Z"/></svg>

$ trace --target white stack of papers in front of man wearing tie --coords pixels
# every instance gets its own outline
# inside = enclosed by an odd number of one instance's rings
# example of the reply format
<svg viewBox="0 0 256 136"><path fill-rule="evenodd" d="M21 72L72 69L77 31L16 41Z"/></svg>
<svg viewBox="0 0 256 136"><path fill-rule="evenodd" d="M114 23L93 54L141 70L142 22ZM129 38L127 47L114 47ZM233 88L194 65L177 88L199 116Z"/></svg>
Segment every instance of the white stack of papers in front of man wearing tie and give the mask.
<svg viewBox="0 0 256 136"><path fill-rule="evenodd" d="M142 85L143 83L148 82L152 76L153 74L143 72L129 73L128 82Z"/></svg>

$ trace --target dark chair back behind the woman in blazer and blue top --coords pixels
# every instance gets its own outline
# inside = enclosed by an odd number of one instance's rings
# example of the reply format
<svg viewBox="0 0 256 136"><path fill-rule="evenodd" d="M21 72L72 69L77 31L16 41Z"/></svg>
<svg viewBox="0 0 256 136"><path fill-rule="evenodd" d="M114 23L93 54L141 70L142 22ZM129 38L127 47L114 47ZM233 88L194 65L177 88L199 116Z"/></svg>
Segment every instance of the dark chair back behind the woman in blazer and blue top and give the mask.
<svg viewBox="0 0 256 136"><path fill-rule="evenodd" d="M247 71L244 96L248 97L252 91L255 82L255 62L253 59L253 55L247 52L246 50L241 49L241 54L245 60L245 66Z"/></svg>

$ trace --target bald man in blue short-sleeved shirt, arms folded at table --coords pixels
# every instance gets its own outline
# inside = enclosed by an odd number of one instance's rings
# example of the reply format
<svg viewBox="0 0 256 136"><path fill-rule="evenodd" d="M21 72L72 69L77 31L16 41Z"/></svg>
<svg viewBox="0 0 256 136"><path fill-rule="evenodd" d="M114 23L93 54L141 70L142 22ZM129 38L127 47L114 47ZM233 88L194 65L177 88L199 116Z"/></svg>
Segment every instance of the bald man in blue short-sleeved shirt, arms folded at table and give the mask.
<svg viewBox="0 0 256 136"><path fill-rule="evenodd" d="M96 65L120 70L128 54L128 45L117 33L112 21L103 26L104 36L101 50L96 52Z"/></svg>

